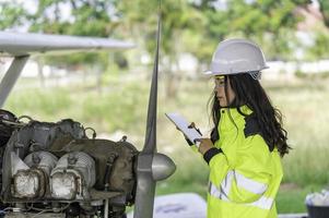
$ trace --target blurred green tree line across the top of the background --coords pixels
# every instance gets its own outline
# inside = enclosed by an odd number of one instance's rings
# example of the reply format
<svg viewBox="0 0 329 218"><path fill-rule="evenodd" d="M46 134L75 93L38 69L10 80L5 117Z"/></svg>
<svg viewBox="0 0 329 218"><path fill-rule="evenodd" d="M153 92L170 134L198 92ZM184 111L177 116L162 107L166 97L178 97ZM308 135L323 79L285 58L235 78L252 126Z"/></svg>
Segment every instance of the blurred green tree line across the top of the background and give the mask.
<svg viewBox="0 0 329 218"><path fill-rule="evenodd" d="M38 2L36 12L25 15L25 21L31 22L33 32L125 36L133 38L140 53L148 52L153 57L157 1L39 0ZM179 81L181 75L178 64L181 53L189 52L198 58L201 66L205 65L210 62L216 44L227 37L246 37L255 40L261 45L268 59L294 59L292 51L298 46L294 32L296 24L303 20L296 13L296 9L306 8L308 3L309 0L163 0L161 63L168 81L167 95L174 96L178 87L174 81ZM325 19L328 20L326 15L329 14L328 1L320 0L319 3ZM71 9L68 17L63 17L61 12L63 5ZM56 62L72 64L79 61L89 63L101 61L106 68L107 60L106 55L90 55L70 57L69 62L67 58ZM125 62L121 61L122 58L116 60Z"/></svg>

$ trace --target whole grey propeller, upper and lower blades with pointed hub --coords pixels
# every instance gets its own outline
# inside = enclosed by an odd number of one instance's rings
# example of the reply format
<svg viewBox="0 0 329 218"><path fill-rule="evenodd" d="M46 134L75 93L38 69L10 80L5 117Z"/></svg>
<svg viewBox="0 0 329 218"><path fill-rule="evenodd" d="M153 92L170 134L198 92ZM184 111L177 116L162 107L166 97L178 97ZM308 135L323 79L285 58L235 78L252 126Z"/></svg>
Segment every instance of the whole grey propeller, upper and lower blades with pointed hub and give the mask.
<svg viewBox="0 0 329 218"><path fill-rule="evenodd" d="M149 98L145 142L137 162L137 190L133 218L153 218L156 181L168 178L176 170L174 161L156 153L157 70L161 31L161 0L158 0L156 50Z"/></svg>

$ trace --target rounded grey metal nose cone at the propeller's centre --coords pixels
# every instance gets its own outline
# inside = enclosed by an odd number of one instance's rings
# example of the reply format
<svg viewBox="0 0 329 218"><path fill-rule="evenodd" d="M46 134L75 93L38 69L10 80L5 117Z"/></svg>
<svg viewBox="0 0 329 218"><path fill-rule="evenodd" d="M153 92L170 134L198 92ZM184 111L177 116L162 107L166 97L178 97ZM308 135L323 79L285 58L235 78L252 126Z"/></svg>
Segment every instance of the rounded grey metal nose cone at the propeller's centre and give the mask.
<svg viewBox="0 0 329 218"><path fill-rule="evenodd" d="M171 177L176 170L176 165L166 155L156 153L152 160L152 177L153 180L160 181Z"/></svg>

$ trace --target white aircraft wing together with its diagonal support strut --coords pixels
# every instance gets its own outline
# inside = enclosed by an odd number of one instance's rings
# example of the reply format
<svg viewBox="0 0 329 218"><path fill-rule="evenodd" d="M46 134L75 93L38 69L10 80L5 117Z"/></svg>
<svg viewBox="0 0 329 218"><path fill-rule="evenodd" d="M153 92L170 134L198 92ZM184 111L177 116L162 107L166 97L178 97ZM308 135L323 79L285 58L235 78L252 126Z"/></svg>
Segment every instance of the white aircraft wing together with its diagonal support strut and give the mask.
<svg viewBox="0 0 329 218"><path fill-rule="evenodd" d="M14 57L0 83L0 107L3 106L32 55L60 55L132 47L134 45L131 43L111 38L0 32L0 56Z"/></svg>

